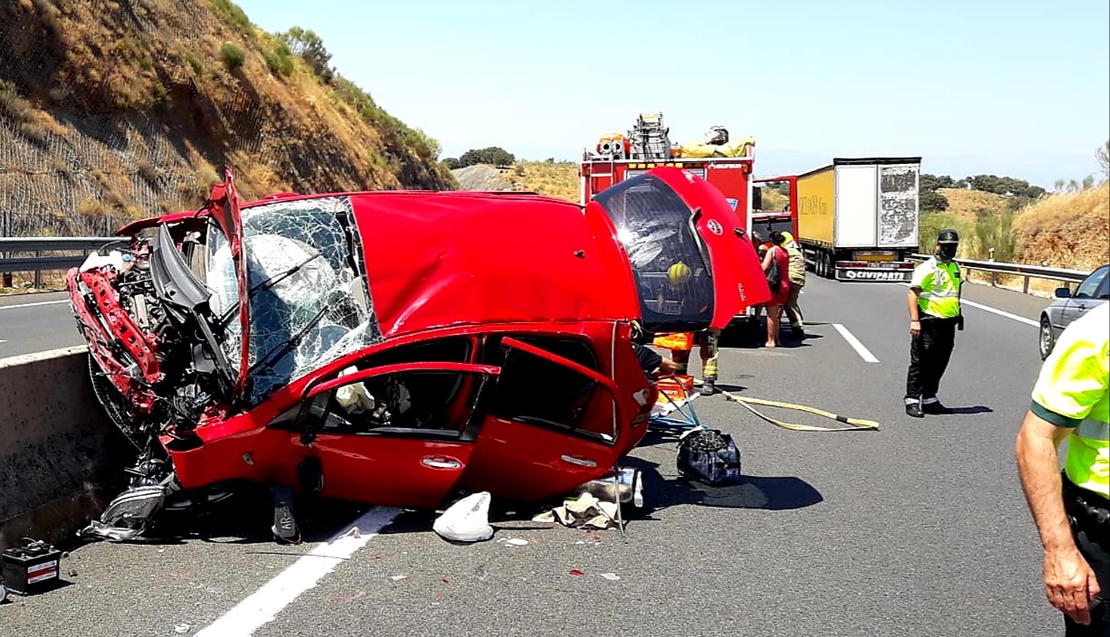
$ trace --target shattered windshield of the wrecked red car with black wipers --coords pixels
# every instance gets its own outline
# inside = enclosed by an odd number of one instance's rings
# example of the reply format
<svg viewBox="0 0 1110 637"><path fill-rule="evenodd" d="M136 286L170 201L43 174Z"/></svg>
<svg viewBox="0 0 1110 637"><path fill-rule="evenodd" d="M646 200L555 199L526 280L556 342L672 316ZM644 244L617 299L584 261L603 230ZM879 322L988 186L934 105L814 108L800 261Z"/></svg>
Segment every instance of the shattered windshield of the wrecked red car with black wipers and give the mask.
<svg viewBox="0 0 1110 637"><path fill-rule="evenodd" d="M275 390L382 340L359 231L346 196L283 201L244 209L243 252L250 286L246 400ZM226 325L224 351L240 372L242 330L226 237L209 224L208 286Z"/></svg>

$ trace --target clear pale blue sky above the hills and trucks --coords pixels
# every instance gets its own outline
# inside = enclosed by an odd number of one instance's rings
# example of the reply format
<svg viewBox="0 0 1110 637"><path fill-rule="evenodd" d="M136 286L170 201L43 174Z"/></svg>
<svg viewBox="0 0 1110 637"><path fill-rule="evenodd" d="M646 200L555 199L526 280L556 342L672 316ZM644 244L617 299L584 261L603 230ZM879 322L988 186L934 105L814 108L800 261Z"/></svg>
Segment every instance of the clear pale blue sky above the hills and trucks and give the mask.
<svg viewBox="0 0 1110 637"><path fill-rule="evenodd" d="M675 141L754 135L759 174L834 155L1046 188L1110 138L1107 0L239 0L314 30L332 62L442 156L577 159L637 113Z"/></svg>

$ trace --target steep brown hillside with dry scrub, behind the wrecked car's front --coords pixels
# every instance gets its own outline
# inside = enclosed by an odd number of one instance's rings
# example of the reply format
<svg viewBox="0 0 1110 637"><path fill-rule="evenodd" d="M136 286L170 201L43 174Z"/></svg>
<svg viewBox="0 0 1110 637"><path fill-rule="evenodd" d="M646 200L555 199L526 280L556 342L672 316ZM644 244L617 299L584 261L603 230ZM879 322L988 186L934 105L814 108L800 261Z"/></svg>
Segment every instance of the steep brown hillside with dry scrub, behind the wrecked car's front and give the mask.
<svg viewBox="0 0 1110 637"><path fill-rule="evenodd" d="M293 27L292 24L290 27ZM0 3L0 234L270 192L453 189L437 144L229 0Z"/></svg>

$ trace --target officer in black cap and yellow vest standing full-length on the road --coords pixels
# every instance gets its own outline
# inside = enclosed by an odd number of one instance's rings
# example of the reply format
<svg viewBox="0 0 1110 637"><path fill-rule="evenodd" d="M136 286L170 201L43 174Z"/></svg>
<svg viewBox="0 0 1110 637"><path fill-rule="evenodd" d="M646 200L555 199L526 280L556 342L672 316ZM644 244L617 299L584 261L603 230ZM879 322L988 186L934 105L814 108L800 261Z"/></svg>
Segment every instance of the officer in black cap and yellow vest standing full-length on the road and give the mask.
<svg viewBox="0 0 1110 637"><path fill-rule="evenodd" d="M963 328L960 310L960 266L956 249L960 236L951 229L937 234L934 256L914 269L909 302L909 372L906 375L906 413L945 414L937 398L940 378L948 368L956 328Z"/></svg>

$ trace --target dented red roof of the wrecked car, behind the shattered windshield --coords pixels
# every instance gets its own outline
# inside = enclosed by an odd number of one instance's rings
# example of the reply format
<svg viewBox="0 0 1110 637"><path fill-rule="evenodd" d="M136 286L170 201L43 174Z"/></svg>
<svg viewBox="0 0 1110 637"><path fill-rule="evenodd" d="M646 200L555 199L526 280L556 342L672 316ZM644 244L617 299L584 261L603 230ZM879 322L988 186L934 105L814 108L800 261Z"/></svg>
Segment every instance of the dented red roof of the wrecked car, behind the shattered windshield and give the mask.
<svg viewBox="0 0 1110 637"><path fill-rule="evenodd" d="M460 324L620 321L619 249L577 205L534 195L352 195L385 337ZM390 240L375 240L377 229ZM579 256L581 254L581 256Z"/></svg>

